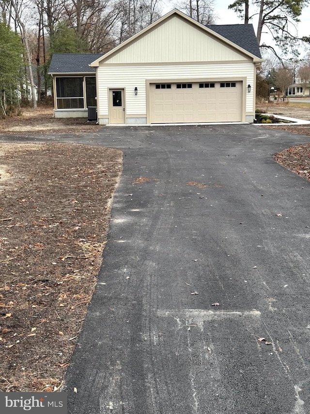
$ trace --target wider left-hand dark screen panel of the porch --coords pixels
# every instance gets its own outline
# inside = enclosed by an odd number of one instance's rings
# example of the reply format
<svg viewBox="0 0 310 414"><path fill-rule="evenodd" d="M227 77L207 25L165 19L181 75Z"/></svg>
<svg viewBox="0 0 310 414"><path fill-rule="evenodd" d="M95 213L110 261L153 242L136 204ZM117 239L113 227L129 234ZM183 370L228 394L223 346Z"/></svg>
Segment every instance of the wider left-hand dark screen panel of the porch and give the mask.
<svg viewBox="0 0 310 414"><path fill-rule="evenodd" d="M56 78L57 109L83 109L83 78Z"/></svg>

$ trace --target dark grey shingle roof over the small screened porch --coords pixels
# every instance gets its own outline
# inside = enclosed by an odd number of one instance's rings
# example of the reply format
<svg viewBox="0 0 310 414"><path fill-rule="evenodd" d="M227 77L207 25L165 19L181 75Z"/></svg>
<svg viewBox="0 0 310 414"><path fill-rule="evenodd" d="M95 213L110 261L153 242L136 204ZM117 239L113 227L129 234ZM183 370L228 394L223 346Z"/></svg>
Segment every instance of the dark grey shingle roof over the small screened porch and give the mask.
<svg viewBox="0 0 310 414"><path fill-rule="evenodd" d="M95 72L95 68L88 65L101 56L103 53L55 53L52 56L48 73Z"/></svg>

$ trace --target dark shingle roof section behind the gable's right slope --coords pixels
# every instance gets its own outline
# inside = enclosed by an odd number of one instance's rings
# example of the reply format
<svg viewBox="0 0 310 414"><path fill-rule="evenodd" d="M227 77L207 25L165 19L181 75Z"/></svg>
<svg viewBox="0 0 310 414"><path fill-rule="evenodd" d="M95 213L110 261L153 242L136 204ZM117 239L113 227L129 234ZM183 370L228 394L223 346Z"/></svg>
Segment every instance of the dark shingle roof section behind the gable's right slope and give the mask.
<svg viewBox="0 0 310 414"><path fill-rule="evenodd" d="M207 28L262 58L252 24L208 24Z"/></svg>

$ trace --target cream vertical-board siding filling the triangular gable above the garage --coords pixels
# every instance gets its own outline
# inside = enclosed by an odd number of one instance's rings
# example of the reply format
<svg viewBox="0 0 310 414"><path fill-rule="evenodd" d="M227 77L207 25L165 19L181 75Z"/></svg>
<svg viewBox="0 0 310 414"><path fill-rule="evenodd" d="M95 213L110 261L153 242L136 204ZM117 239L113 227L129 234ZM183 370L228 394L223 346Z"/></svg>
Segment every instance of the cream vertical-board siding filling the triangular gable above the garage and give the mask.
<svg viewBox="0 0 310 414"><path fill-rule="evenodd" d="M105 64L158 62L222 62L248 60L211 33L200 30L184 19L173 16L135 42L112 54Z"/></svg>

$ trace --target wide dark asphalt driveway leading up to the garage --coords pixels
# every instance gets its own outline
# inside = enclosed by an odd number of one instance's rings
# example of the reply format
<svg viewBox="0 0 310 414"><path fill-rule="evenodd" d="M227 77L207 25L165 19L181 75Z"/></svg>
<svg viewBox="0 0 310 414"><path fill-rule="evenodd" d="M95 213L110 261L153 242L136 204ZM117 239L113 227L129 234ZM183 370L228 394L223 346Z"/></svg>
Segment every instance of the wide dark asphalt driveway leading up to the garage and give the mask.
<svg viewBox="0 0 310 414"><path fill-rule="evenodd" d="M68 413L310 413L310 182L272 159L309 137L214 125L46 139L124 151Z"/></svg>

